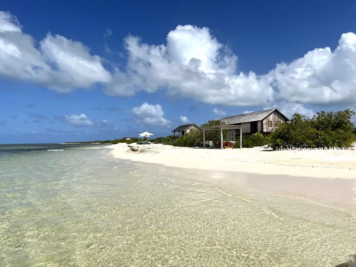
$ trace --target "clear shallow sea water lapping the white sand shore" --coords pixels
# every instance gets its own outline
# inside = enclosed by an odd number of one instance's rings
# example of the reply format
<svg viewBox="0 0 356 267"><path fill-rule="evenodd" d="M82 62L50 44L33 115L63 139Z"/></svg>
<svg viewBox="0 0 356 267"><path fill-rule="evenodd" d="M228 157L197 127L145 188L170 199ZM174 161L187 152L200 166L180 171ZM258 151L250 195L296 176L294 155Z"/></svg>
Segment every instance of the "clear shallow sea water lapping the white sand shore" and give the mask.
<svg viewBox="0 0 356 267"><path fill-rule="evenodd" d="M178 169L105 146L0 145L0 266L324 267L356 253L351 180Z"/></svg>

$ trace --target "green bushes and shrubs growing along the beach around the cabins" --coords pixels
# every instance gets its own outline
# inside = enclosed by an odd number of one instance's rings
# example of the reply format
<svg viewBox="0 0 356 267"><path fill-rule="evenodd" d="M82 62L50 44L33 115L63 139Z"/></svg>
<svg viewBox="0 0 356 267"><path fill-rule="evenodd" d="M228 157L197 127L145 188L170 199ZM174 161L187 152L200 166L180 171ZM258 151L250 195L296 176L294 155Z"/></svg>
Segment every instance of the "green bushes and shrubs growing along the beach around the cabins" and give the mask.
<svg viewBox="0 0 356 267"><path fill-rule="evenodd" d="M270 135L262 133L243 134L242 147L256 147L269 145L273 149L280 148L320 148L320 147L344 147L349 148L356 142L356 127L351 121L355 112L350 109L337 112L317 112L312 118L299 114L294 114L289 122L282 123ZM220 120L209 120L200 127L223 125ZM127 137L115 140L92 141L87 143L136 143L143 141L141 138ZM220 141L220 131L205 131L205 146L216 145ZM228 140L227 130L223 130L223 140ZM231 141L231 140L230 140ZM240 147L239 140L236 140L235 147ZM150 142L162 143L180 147L202 147L203 129L193 130L186 135L175 138L173 135L166 137L156 137Z"/></svg>

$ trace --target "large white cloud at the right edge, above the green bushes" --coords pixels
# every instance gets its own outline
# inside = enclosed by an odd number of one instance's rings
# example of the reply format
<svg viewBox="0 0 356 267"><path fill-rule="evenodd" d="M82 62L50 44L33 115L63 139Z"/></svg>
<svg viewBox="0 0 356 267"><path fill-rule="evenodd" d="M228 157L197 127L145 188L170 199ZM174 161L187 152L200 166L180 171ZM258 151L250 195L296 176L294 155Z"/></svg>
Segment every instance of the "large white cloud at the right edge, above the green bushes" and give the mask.
<svg viewBox="0 0 356 267"><path fill-rule="evenodd" d="M356 100L356 35L344 33L339 46L316 48L273 70L279 97L290 102L347 104Z"/></svg>

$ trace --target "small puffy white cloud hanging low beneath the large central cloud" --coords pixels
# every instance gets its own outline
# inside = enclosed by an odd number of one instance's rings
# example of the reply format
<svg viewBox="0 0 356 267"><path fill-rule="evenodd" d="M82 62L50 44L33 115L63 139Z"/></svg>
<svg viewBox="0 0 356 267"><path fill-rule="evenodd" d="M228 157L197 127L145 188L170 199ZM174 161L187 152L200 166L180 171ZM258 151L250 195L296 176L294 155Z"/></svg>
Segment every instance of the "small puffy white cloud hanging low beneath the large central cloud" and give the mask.
<svg viewBox="0 0 356 267"><path fill-rule="evenodd" d="M151 105L145 102L141 106L135 106L131 111L136 115L138 122L141 124L171 126L171 121L164 119L164 112L162 106L159 104Z"/></svg>

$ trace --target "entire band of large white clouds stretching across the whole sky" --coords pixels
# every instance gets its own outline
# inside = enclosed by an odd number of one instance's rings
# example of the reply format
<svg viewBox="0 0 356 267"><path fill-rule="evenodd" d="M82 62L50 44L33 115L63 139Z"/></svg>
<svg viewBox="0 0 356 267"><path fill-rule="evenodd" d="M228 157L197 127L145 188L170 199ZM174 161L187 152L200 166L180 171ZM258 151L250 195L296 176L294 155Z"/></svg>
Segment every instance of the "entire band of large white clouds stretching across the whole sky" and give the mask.
<svg viewBox="0 0 356 267"><path fill-rule="evenodd" d="M22 31L16 17L0 12L0 75L58 92L100 83L108 95L166 89L170 95L230 106L352 105L356 100L356 35L352 32L343 33L334 50L305 51L303 57L278 63L263 75L237 72L237 56L207 27L178 25L161 45L142 43L130 35L124 46L125 69L114 68L110 73L81 42L48 33L37 44Z"/></svg>

